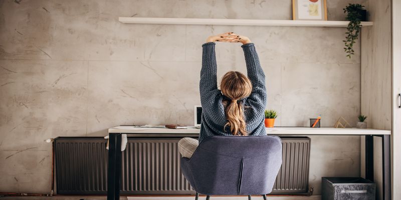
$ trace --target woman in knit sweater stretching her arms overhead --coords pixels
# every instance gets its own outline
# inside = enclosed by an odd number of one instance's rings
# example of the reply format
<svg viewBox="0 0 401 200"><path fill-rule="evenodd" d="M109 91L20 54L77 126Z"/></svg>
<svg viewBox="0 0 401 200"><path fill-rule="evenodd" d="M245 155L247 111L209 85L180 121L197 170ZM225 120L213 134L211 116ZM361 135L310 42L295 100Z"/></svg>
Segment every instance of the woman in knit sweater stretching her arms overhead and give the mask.
<svg viewBox="0 0 401 200"><path fill-rule="evenodd" d="M227 72L217 87L215 41L241 42L247 64L248 77L239 71ZM182 156L190 158L198 143L212 135L266 135L265 73L259 63L254 43L233 32L209 36L202 44L200 70L200 102L202 121L199 140L184 137L178 142Z"/></svg>

